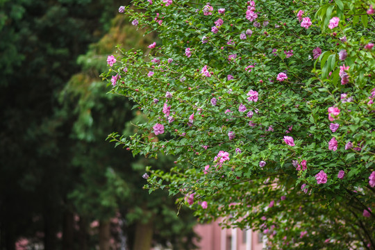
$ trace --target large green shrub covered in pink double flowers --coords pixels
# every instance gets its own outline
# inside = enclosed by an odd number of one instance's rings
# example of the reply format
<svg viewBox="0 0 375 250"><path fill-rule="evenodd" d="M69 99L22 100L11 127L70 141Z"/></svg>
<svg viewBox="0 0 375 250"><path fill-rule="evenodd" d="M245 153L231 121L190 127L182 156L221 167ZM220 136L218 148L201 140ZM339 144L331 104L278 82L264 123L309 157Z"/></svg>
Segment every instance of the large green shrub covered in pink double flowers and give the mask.
<svg viewBox="0 0 375 250"><path fill-rule="evenodd" d="M149 169L150 192L181 192L202 220L261 230L271 249L374 248L374 2L133 5L161 42L119 47L103 77L149 117L109 138L177 157Z"/></svg>

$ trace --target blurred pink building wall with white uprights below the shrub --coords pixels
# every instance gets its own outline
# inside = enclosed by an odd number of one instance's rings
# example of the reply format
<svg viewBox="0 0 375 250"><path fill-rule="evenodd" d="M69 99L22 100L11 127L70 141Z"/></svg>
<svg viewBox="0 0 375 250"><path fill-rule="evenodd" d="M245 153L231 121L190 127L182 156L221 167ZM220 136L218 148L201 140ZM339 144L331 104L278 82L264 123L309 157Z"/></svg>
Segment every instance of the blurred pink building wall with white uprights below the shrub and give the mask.
<svg viewBox="0 0 375 250"><path fill-rule="evenodd" d="M242 231L238 228L224 228L219 221L211 224L199 224L194 231L201 238L197 242L201 250L262 250L263 237L257 232Z"/></svg>

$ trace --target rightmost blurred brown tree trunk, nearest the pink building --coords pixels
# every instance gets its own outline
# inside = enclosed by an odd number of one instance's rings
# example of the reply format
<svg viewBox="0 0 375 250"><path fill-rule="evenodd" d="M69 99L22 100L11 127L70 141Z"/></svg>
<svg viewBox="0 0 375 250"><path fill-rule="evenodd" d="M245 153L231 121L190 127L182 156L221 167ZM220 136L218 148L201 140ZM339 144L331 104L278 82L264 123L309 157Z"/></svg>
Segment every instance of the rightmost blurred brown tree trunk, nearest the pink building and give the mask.
<svg viewBox="0 0 375 250"><path fill-rule="evenodd" d="M135 240L133 250L150 250L153 235L152 219L147 224L138 222L135 226Z"/></svg>

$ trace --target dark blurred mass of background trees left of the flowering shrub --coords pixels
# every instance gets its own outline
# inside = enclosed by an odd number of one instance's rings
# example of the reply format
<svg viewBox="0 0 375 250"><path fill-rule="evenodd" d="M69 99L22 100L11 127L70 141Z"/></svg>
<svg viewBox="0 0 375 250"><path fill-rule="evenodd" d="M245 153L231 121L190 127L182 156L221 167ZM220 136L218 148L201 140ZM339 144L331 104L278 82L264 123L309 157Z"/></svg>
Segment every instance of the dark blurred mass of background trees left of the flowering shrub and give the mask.
<svg viewBox="0 0 375 250"><path fill-rule="evenodd" d="M144 165L168 159L133 159L104 141L143 119L98 78L114 44L149 42L124 17L110 22L127 3L0 1L0 249L20 237L47 250L192 247L192 215L141 188Z"/></svg>

